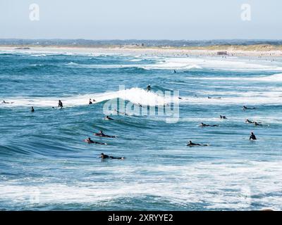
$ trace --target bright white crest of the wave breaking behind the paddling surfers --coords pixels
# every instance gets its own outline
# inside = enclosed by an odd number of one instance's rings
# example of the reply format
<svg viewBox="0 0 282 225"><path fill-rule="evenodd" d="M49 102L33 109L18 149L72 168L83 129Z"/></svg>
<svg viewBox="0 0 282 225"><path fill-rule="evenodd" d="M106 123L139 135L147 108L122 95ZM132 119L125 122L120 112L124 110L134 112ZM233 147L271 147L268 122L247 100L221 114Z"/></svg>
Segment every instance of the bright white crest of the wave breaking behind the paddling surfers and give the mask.
<svg viewBox="0 0 282 225"><path fill-rule="evenodd" d="M125 101L130 101L134 104L141 105L165 105L168 103L169 99L165 99L164 96L156 94L152 91L145 91L140 88L125 89L121 91L111 91L103 94L84 94L80 96L68 96L68 97L42 97L42 98L6 98L8 102L13 102L13 104L0 104L5 107L15 107L15 106L36 106L36 107L56 107L58 105L59 99L63 102L64 107L73 107L78 105L87 105L89 98L94 98L94 103L99 103L106 100L111 100L114 98L122 98Z"/></svg>

